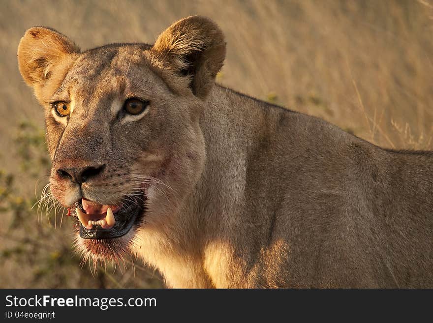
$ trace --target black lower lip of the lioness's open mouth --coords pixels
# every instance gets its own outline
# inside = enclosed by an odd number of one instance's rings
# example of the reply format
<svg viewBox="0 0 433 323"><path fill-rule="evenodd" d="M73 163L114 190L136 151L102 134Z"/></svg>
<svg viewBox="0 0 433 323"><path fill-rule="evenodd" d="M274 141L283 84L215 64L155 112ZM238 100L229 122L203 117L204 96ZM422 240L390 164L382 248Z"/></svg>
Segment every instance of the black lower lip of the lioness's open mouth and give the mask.
<svg viewBox="0 0 433 323"><path fill-rule="evenodd" d="M137 220L144 214L145 206L131 204L129 206L121 208L114 218L116 223L111 229L102 229L101 226L95 226L91 230L84 228L78 221L80 226L80 236L83 239L114 239L126 235Z"/></svg>

